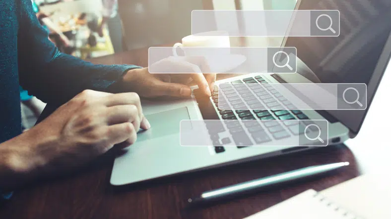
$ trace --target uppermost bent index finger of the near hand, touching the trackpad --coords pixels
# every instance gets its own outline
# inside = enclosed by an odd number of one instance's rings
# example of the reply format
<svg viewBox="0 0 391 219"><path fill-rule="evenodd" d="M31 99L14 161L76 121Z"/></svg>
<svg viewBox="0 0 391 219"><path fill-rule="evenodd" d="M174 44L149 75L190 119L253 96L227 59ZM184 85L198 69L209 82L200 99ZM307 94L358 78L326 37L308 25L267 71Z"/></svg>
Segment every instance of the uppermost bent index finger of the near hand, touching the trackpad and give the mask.
<svg viewBox="0 0 391 219"><path fill-rule="evenodd" d="M128 92L128 93L116 93L104 97L106 106L116 106L116 105L135 105L138 110L138 117L141 121L142 119L142 107L140 97L137 93Z"/></svg>

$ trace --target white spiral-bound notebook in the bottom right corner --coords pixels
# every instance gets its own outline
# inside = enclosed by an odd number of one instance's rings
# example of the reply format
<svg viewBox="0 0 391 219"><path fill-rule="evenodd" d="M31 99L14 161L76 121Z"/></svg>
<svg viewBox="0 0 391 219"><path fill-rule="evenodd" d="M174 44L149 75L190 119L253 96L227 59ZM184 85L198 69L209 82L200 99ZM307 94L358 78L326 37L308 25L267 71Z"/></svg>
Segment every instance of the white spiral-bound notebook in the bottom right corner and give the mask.
<svg viewBox="0 0 391 219"><path fill-rule="evenodd" d="M391 180L363 175L313 189L245 219L391 219Z"/></svg>

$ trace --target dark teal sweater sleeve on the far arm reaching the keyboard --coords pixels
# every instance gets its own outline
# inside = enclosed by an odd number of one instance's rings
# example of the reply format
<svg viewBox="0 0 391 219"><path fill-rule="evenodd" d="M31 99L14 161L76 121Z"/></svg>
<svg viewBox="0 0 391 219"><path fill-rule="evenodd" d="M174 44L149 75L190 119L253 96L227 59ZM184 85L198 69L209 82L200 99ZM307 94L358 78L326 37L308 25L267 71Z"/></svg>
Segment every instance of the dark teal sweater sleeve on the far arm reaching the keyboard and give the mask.
<svg viewBox="0 0 391 219"><path fill-rule="evenodd" d="M61 53L48 39L33 11L31 0L20 0L18 29L19 83L47 103L65 103L84 89L115 91L134 65L95 65ZM116 86L113 86L116 87Z"/></svg>

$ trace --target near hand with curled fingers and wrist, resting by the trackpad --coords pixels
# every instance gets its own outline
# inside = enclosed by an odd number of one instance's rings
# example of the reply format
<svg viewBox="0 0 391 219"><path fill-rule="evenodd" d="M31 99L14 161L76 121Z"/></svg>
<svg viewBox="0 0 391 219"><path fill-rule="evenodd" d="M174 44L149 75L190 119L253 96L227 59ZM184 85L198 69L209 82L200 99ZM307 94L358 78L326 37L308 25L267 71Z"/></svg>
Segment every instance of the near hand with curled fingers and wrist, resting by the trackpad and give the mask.
<svg viewBox="0 0 391 219"><path fill-rule="evenodd" d="M31 148L29 156L15 160L16 169L28 172L38 167L52 172L82 165L115 144L133 144L140 128L150 125L136 93L85 90L20 135Z"/></svg>

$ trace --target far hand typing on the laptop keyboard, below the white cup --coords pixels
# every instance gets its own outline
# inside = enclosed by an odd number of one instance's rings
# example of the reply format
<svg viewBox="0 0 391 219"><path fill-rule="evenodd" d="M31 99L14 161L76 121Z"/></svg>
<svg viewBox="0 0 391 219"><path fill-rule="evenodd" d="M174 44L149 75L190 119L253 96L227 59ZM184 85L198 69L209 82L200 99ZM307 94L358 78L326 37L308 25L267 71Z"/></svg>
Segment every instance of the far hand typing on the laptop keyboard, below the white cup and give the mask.
<svg viewBox="0 0 391 219"><path fill-rule="evenodd" d="M184 61L163 59L157 63L161 68L169 67L175 72L188 74L151 74L148 68L132 69L124 76L124 86L141 97L153 98L162 96L189 97L192 94L188 84L195 81L205 95L210 96L216 81L216 74L202 74L210 72L209 66L203 58L187 58ZM190 73L194 72L194 73Z"/></svg>

